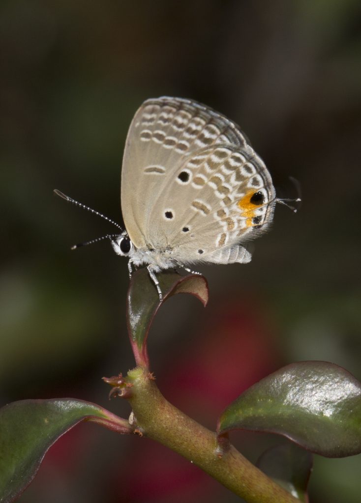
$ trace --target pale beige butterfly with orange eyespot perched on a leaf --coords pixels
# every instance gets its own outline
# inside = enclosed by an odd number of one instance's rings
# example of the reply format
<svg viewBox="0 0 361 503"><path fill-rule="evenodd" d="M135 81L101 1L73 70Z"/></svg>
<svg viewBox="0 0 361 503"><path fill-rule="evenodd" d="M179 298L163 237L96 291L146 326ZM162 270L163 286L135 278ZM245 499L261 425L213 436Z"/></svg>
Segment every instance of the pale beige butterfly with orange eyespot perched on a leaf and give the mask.
<svg viewBox="0 0 361 503"><path fill-rule="evenodd" d="M273 218L271 176L239 126L192 100L145 101L131 121L121 172L125 229L59 191L57 195L115 224L109 238L132 268L157 273L200 263L245 264L247 242ZM76 245L78 247L80 245Z"/></svg>

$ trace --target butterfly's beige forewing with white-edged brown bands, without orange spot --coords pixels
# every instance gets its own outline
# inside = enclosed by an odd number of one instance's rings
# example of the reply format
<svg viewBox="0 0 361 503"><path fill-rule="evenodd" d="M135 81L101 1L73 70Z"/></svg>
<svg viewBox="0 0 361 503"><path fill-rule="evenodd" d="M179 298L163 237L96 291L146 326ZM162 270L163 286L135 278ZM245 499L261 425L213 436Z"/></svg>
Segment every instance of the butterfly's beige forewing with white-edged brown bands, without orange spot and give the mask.
<svg viewBox="0 0 361 503"><path fill-rule="evenodd" d="M150 210L183 158L223 143L242 147L238 126L198 103L180 98L147 100L130 124L123 156L121 206L135 246L146 244Z"/></svg>

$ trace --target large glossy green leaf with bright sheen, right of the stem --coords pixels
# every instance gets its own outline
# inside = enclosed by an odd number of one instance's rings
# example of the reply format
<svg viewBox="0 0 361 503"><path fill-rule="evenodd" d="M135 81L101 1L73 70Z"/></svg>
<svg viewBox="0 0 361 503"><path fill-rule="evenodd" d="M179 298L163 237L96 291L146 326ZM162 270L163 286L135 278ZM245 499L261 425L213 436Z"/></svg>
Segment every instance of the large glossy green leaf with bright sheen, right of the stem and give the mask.
<svg viewBox="0 0 361 503"><path fill-rule="evenodd" d="M277 433L327 457L361 452L361 383L328 362L298 362L247 389L222 413L218 431Z"/></svg>

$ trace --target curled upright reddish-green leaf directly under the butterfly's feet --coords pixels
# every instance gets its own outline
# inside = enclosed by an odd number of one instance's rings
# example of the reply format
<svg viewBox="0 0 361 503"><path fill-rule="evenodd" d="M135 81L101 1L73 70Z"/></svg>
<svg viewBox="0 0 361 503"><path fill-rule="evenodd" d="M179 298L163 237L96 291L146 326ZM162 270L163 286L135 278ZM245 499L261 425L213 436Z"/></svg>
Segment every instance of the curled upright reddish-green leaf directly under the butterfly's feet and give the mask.
<svg viewBox="0 0 361 503"><path fill-rule="evenodd" d="M159 300L157 289L147 268L132 274L126 304L127 325L137 365L149 367L147 337L153 319L160 306L172 295L189 293L205 306L208 302L208 285L204 276L189 274L181 276L174 272L157 273L163 294Z"/></svg>

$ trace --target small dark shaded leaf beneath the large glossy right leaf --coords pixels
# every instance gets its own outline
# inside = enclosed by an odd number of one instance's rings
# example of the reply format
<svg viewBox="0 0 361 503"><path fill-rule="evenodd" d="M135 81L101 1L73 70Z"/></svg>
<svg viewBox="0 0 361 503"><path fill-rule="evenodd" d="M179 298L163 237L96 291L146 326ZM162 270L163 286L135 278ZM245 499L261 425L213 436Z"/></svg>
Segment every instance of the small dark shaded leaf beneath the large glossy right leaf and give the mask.
<svg viewBox="0 0 361 503"><path fill-rule="evenodd" d="M267 449L256 465L293 496L308 502L307 484L312 469L312 454L292 442Z"/></svg>

